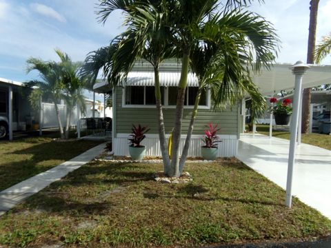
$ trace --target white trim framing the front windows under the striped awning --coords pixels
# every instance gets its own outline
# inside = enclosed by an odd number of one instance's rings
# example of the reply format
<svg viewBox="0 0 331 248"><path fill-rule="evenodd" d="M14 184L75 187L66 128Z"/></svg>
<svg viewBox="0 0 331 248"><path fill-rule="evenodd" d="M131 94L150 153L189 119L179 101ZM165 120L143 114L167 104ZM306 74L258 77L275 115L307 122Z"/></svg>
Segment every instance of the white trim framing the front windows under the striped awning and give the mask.
<svg viewBox="0 0 331 248"><path fill-rule="evenodd" d="M126 87L122 88L122 107L123 108L155 108L155 105L146 105L146 86L141 86L144 87L143 90L143 105L142 104L126 104ZM189 88L189 87L188 87ZM175 109L176 105L168 105L168 87L164 88L164 104L162 105L163 110L166 109ZM210 110L210 89L207 90L207 105L199 105L198 109L199 110ZM186 98L186 104L188 104L188 97ZM193 109L194 105L184 105L184 109Z"/></svg>

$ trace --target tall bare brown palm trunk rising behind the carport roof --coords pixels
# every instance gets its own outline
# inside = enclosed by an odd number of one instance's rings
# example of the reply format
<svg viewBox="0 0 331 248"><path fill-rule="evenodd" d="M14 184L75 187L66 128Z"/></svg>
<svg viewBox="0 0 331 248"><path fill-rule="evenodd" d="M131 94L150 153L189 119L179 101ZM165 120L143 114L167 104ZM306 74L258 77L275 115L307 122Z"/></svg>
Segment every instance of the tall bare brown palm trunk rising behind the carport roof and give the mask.
<svg viewBox="0 0 331 248"><path fill-rule="evenodd" d="M319 0L310 1L310 21L309 21L309 37L308 37L308 52L307 63L314 63L314 51L316 42L316 27L317 27L317 12L319 10ZM306 88L303 90L302 99L302 123L301 132L308 134L310 120L310 102L312 99L312 89Z"/></svg>

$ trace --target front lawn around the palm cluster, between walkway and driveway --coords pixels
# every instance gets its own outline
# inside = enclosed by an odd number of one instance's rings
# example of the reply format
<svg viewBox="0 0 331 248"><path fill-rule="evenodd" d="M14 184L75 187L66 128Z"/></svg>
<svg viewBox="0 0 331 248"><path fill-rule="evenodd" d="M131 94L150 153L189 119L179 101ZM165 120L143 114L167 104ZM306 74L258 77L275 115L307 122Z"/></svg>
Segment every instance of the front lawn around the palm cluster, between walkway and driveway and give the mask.
<svg viewBox="0 0 331 248"><path fill-rule="evenodd" d="M243 163L188 163L194 181L152 180L161 165L92 162L0 218L5 247L195 247L301 240L331 221Z"/></svg>

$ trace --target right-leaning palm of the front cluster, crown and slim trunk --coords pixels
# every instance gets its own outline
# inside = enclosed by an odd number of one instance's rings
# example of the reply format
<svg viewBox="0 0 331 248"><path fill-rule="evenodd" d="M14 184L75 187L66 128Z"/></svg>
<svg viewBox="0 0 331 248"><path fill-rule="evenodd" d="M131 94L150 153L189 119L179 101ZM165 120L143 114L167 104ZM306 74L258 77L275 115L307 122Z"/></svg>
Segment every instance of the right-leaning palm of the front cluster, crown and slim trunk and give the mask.
<svg viewBox="0 0 331 248"><path fill-rule="evenodd" d="M214 28L229 31L215 32ZM190 136L197 116L201 91L206 87L211 89L215 106L226 103L234 105L238 99L248 94L254 105L254 115L261 116L265 111L266 103L250 78L249 68L256 68L259 63L269 68L268 62L274 61L275 58L267 52L275 45L270 43L270 39L274 37L277 40L274 30L268 22L259 19L259 16L251 12L233 10L221 18L216 15L208 25L205 25L201 31L201 37L205 41L199 41L200 45L194 48L190 56L190 68L199 79L199 90L180 158L181 172L190 147ZM248 47L254 48L255 59ZM236 52L228 56L227 51ZM258 64L255 61L259 61Z"/></svg>

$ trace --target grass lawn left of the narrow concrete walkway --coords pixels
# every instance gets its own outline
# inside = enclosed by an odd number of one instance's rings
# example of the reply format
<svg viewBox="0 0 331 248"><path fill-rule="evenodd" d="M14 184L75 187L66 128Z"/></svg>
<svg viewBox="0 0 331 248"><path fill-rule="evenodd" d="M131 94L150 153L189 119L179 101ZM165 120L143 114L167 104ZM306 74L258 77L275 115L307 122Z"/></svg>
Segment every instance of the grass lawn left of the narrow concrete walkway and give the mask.
<svg viewBox="0 0 331 248"><path fill-rule="evenodd" d="M26 138L0 143L0 191L45 172L100 142L54 142L50 137Z"/></svg>

